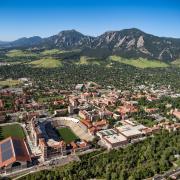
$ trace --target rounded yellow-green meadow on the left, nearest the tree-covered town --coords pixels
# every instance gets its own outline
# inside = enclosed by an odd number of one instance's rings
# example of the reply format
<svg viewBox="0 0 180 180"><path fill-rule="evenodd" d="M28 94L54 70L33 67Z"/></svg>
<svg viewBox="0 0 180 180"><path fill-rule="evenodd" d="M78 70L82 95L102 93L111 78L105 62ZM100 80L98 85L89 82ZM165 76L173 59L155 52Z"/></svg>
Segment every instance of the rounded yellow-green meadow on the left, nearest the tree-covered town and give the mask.
<svg viewBox="0 0 180 180"><path fill-rule="evenodd" d="M32 61L29 64L33 65L34 67L41 67L41 68L56 68L62 66L61 61L53 58L43 58L40 60Z"/></svg>

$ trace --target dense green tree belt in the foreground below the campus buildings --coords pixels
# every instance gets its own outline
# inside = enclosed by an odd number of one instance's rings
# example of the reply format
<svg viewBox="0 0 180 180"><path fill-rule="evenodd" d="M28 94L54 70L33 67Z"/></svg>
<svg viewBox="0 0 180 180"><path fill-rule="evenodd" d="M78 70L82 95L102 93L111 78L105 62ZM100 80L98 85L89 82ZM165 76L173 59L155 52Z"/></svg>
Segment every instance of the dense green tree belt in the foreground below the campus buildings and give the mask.
<svg viewBox="0 0 180 180"><path fill-rule="evenodd" d="M167 171L180 152L180 132L161 132L125 149L100 155L85 155L81 162L50 171L37 172L22 179L144 179Z"/></svg>

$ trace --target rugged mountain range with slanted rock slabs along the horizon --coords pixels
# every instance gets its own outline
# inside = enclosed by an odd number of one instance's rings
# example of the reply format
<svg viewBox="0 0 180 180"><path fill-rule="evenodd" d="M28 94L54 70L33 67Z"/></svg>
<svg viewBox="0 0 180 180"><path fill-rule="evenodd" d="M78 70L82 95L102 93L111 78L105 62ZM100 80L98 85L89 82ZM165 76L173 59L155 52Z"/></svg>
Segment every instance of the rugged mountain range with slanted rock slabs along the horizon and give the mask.
<svg viewBox="0 0 180 180"><path fill-rule="evenodd" d="M108 31L97 37L83 35L76 30L66 30L47 38L34 36L12 42L0 41L0 47L80 49L88 56L119 55L126 58L144 57L162 61L180 58L180 39L158 37L136 28Z"/></svg>

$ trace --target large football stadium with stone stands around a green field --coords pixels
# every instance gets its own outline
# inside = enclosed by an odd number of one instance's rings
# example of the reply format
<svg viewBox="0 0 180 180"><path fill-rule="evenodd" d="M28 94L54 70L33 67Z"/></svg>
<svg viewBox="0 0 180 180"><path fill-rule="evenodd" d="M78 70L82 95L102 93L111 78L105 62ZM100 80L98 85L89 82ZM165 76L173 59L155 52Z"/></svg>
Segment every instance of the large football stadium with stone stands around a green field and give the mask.
<svg viewBox="0 0 180 180"><path fill-rule="evenodd" d="M33 118L30 126L30 137L44 160L86 150L93 139L79 120L70 117Z"/></svg>

